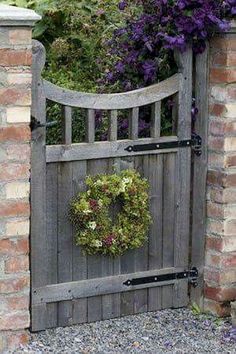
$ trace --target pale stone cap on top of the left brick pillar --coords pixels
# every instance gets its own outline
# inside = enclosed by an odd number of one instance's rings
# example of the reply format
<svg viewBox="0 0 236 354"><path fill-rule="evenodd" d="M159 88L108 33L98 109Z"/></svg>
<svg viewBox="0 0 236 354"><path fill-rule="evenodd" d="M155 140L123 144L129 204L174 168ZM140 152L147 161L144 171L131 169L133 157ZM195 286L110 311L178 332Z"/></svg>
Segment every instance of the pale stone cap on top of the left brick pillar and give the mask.
<svg viewBox="0 0 236 354"><path fill-rule="evenodd" d="M15 6L0 5L0 26L30 26L41 20L35 11Z"/></svg>

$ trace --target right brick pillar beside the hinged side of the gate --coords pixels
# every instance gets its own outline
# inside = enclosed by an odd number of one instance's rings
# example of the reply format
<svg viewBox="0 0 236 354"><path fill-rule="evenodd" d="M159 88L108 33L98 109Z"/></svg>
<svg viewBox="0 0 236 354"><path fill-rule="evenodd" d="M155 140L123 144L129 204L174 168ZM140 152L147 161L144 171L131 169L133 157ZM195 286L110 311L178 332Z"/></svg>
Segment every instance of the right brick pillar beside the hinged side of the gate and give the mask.
<svg viewBox="0 0 236 354"><path fill-rule="evenodd" d="M236 23L210 43L205 309L236 299Z"/></svg>

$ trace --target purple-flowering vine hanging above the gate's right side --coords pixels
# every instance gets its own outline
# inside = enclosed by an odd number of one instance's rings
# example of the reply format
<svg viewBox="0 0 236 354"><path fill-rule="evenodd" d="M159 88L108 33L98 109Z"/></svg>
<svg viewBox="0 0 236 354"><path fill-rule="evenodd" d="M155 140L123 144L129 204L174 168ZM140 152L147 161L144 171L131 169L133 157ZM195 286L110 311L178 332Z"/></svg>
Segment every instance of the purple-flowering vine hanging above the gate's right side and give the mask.
<svg viewBox="0 0 236 354"><path fill-rule="evenodd" d="M107 84L122 90L150 85L175 70L173 50L185 51L191 43L202 53L216 31L226 31L236 14L236 0L140 0L141 15L128 20L109 42L115 63ZM119 3L120 11L129 6Z"/></svg>

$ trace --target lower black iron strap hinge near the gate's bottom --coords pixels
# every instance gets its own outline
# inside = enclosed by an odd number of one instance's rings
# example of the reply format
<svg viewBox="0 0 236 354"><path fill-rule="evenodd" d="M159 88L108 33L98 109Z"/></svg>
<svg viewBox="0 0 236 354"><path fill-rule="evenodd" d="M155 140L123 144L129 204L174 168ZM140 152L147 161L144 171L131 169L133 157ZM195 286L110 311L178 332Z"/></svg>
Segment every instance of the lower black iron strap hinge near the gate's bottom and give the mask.
<svg viewBox="0 0 236 354"><path fill-rule="evenodd" d="M190 270L186 270L184 272L177 272L177 273L168 273L168 274L160 274L160 275L153 275L149 277L143 278L134 278L128 279L123 284L126 286L136 286L142 284L150 284L150 283L160 283L170 280L180 280L180 279L187 279L188 282L196 288L198 283L198 269L193 267Z"/></svg>

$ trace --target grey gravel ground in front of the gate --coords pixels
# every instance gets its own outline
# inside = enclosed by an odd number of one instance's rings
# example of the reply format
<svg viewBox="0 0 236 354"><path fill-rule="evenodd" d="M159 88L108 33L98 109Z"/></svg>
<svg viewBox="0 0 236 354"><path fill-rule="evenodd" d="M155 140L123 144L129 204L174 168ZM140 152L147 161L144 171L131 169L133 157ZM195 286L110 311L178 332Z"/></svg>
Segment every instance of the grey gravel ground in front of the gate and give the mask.
<svg viewBox="0 0 236 354"><path fill-rule="evenodd" d="M33 334L15 353L236 353L229 320L164 310Z"/></svg>

